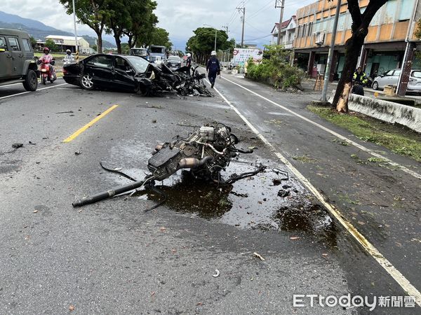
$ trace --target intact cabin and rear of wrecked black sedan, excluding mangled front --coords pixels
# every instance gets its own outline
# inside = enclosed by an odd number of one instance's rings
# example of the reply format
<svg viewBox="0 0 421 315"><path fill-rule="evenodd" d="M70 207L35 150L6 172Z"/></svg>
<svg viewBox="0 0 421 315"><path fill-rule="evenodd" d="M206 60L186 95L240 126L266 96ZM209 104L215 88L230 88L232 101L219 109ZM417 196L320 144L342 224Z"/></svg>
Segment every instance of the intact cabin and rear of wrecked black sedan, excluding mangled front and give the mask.
<svg viewBox="0 0 421 315"><path fill-rule="evenodd" d="M95 88L138 92L151 84L152 67L146 59L135 55L91 55L76 64L63 66L63 79L85 90Z"/></svg>

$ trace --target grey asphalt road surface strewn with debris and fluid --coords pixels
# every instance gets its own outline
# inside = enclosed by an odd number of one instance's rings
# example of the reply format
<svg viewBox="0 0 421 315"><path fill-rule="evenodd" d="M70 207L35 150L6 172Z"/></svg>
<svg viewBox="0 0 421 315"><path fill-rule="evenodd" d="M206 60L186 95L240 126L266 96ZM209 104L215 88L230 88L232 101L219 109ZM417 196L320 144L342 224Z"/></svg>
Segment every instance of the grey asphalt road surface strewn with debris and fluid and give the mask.
<svg viewBox="0 0 421 315"><path fill-rule="evenodd" d="M309 97L227 78L317 120L305 111ZM228 174L253 169L256 161L285 167L216 93L145 98L60 84L3 99L23 89L0 87L2 314L366 314L366 307L293 307L293 294L406 295L294 177L282 182L290 186L286 198L277 196L273 172L222 190L178 174L162 183L168 202L146 214L157 196L72 208L77 197L126 183L104 172L100 160L141 179L156 143L214 120L231 126L240 146L257 147L232 162ZM350 155L366 155L356 148L232 83L218 79L216 86L420 288L420 243L412 241L420 239L419 180L358 164ZM62 142L115 104L79 137ZM5 153L15 142L23 148ZM304 155L312 162L293 159Z"/></svg>

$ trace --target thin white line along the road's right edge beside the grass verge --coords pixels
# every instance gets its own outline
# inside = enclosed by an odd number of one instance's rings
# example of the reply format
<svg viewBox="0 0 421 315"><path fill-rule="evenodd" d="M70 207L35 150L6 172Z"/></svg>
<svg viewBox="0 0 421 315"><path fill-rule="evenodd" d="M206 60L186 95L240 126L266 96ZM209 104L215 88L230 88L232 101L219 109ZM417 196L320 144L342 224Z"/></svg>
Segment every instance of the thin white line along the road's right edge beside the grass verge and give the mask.
<svg viewBox="0 0 421 315"><path fill-rule="evenodd" d="M338 137L342 140L348 141L349 144L352 144L353 146L356 146L357 148L359 148L361 151L365 151L366 153L369 153L370 155L373 155L375 158L380 158L382 160L385 160L385 162L389 163L389 165L392 165L394 167L397 167L399 169L401 169L403 172L406 172L412 176L414 176L417 179L421 179L421 174L418 174L417 172L414 172L411 169L408 169L407 167L404 167L403 165L400 165L396 162L393 162L392 160L386 158L385 156L379 154L379 153L375 153L374 151L371 151L369 148L366 148L365 146L361 146L361 144L357 144L356 142L352 141L351 139L348 139L347 137L342 136L342 134L338 134L338 132L334 132L333 130L328 129L327 127L324 127L316 122L314 122L313 120L310 120L309 118L306 118L304 116L301 116L299 113L295 113L295 111L291 111L290 109L288 109L285 106L282 106L274 101L272 101L271 99L268 99L267 97L264 97L256 92L253 92L252 90L249 90L247 87L243 87L242 85L239 85L238 83L235 83L232 80L229 80L227 78L221 77L224 80L227 80L230 83L233 83L235 85L238 85L239 87L243 88L244 90L255 94L258 97L261 97L262 99L265 99L265 101L274 104L275 106L278 106L280 109L283 109L284 111L288 111L288 113L292 113L293 115L297 116L298 118L301 118L302 120L307 121L307 123L311 123L312 125L315 125L316 127L319 127L321 130L324 130L326 132L329 132L330 134L333 134L335 137Z"/></svg>

